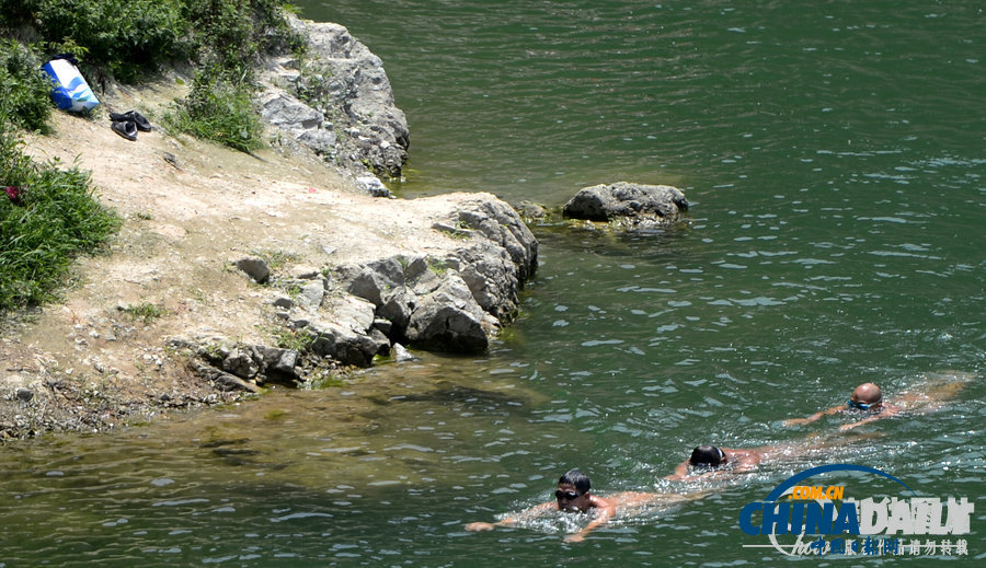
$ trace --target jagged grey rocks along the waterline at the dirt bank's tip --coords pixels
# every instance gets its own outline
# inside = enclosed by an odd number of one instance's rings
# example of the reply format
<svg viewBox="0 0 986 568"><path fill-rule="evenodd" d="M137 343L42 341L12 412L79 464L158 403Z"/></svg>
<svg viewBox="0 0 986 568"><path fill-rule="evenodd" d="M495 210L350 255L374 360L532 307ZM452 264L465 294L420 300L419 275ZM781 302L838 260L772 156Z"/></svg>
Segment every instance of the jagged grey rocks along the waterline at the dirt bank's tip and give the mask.
<svg viewBox="0 0 986 568"><path fill-rule="evenodd" d="M262 259L232 264L244 277L265 276L273 316L293 348L188 340L193 370L221 390L299 383L310 371L370 367L377 356L433 351L482 352L517 313L534 275L538 244L519 216L493 196L469 197L432 229L461 240L438 255L401 255L317 270L295 266L270 274Z"/></svg>

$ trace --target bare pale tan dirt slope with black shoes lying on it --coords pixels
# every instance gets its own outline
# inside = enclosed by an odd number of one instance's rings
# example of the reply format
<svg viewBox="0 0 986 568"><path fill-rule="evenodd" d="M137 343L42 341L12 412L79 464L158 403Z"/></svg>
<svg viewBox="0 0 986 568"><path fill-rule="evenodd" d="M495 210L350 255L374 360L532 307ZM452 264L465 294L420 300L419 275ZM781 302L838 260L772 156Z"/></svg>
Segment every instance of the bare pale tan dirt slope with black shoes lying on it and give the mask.
<svg viewBox="0 0 986 568"><path fill-rule="evenodd" d="M276 343L271 290L232 268L238 258L265 256L289 273L459 244L432 225L474 195L371 198L313 155L248 155L160 128L134 142L110 129L110 111L138 109L157 125L182 90L173 79L121 90L95 118L56 113L55 134L27 140L36 158L91 171L124 224L107 254L77 263L64 301L3 323L0 437L105 429L237 396L195 378L165 345Z"/></svg>

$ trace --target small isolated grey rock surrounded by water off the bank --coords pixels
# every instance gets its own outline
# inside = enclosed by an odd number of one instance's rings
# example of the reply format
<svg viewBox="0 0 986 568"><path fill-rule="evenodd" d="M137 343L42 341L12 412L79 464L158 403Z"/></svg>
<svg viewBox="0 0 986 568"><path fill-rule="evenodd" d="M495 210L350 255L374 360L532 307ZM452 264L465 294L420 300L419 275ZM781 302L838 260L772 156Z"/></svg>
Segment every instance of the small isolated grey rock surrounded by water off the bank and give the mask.
<svg viewBox="0 0 986 568"><path fill-rule="evenodd" d="M649 229L678 222L687 209L688 200L676 187L617 182L581 189L565 204L562 215L569 219Z"/></svg>

